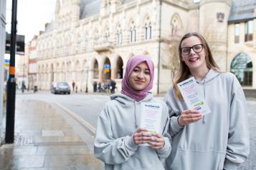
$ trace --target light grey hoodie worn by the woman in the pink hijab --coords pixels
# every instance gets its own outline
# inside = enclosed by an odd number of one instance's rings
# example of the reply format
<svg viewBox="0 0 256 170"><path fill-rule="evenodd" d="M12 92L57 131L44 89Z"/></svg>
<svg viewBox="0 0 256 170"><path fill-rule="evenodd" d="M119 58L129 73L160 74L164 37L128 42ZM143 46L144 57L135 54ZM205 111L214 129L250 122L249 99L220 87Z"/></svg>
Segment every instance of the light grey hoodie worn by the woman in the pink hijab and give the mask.
<svg viewBox="0 0 256 170"><path fill-rule="evenodd" d="M165 140L162 149L137 146L133 143L133 133L138 129L141 102L124 94L113 94L111 101L98 117L94 141L95 156L105 163L105 169L164 169L163 159L171 152L169 136L169 114L166 104L148 93L143 102L158 103L163 106L161 131Z"/></svg>

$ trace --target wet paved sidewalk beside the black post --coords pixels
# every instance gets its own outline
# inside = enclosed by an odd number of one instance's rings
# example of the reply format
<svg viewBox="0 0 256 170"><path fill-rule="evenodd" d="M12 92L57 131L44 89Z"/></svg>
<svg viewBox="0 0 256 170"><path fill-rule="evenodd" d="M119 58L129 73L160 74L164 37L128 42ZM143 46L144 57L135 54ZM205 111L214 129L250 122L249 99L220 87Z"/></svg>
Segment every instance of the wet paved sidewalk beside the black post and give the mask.
<svg viewBox="0 0 256 170"><path fill-rule="evenodd" d="M0 147L1 170L103 169L93 136L62 109L19 99L15 114L15 141Z"/></svg>

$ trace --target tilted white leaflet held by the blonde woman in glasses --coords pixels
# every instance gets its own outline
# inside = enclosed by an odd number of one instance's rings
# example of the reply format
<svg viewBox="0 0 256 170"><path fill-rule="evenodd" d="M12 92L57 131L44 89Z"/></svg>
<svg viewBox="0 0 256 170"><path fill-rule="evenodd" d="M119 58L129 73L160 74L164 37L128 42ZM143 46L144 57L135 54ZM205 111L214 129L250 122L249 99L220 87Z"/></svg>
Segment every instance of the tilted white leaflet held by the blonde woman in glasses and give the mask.
<svg viewBox="0 0 256 170"><path fill-rule="evenodd" d="M194 76L178 84L179 91L181 91L186 106L188 106L189 109L199 111L203 115L211 113L207 102L196 92L196 86Z"/></svg>

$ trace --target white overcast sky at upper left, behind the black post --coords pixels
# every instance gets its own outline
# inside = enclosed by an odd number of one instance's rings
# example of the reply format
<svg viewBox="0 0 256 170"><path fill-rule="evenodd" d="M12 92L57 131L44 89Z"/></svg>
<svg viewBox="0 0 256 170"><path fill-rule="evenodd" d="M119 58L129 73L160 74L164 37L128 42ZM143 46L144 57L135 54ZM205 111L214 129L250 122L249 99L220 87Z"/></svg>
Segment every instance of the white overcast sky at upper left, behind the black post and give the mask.
<svg viewBox="0 0 256 170"><path fill-rule="evenodd" d="M25 35L25 41L28 42L40 30L44 31L44 24L53 19L55 1L18 0L17 34ZM11 33L11 0L6 0L6 22L6 31Z"/></svg>

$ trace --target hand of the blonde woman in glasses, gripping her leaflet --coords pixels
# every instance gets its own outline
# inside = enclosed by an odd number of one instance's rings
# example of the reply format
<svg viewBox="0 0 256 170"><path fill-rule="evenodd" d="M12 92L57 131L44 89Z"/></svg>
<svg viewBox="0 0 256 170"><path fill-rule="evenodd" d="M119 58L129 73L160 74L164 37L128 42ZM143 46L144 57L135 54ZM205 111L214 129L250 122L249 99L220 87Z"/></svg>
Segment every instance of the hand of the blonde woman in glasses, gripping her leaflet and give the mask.
<svg viewBox="0 0 256 170"><path fill-rule="evenodd" d="M181 116L179 116L178 123L180 126L186 126L188 124L199 121L202 119L202 117L203 116L199 113L199 111L193 109L184 110L182 111Z"/></svg>

